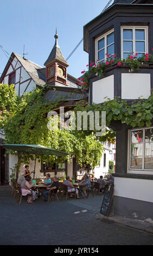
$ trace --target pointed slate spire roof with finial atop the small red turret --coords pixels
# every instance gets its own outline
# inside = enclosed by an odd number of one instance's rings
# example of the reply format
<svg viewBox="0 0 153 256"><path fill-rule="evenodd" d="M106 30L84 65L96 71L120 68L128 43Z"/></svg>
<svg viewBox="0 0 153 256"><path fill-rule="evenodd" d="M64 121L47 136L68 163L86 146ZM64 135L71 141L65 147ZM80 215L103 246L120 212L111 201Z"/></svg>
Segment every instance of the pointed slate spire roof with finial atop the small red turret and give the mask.
<svg viewBox="0 0 153 256"><path fill-rule="evenodd" d="M60 62L62 62L63 64L66 64L68 66L67 61L65 60L65 58L63 57L63 54L60 50L60 46L58 44L58 34L57 34L57 28L56 28L56 34L54 35L55 38L55 44L54 47L52 49L52 52L50 52L50 55L48 57L48 59L46 60L46 62L44 63L44 65L46 66L49 62L52 62L52 60L56 59L59 60Z"/></svg>

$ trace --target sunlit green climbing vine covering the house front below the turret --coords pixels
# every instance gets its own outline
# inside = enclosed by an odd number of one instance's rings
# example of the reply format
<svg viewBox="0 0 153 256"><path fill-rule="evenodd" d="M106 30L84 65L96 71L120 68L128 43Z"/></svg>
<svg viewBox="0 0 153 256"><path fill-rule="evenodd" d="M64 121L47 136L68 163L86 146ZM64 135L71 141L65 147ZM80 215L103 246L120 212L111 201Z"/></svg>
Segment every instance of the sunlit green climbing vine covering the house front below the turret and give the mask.
<svg viewBox="0 0 153 256"><path fill-rule="evenodd" d="M92 135L84 135L81 131L48 130L47 114L55 109L61 99L54 102L44 100L43 89L36 88L33 92L16 95L14 85L0 84L0 127L5 132L5 143L7 144L40 144L45 147L65 151L76 156L78 163L92 164L94 168L101 159L103 146L97 138ZM18 164L14 172L18 172L21 163L29 163L34 160L33 155L20 154L15 151L7 151L18 154ZM57 156L38 155L39 160L59 162L70 160L70 156L59 159Z"/></svg>

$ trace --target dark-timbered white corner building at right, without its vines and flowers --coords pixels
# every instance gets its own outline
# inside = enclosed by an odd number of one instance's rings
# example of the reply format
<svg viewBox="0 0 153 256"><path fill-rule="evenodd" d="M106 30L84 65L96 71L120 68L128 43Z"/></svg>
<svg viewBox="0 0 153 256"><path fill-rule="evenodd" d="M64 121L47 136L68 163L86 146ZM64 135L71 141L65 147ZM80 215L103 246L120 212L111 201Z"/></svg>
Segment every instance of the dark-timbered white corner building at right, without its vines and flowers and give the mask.
<svg viewBox="0 0 153 256"><path fill-rule="evenodd" d="M153 1L115 0L103 13L84 26L84 50L89 64L106 59L106 53L126 58L131 52L151 53L153 48ZM141 65L129 72L129 66L113 64L104 76L90 77L90 104L103 104L109 97L120 97L129 104L153 88L153 65ZM151 127L130 127L121 121L116 130L116 173L112 213L136 220L153 220L153 123Z"/></svg>

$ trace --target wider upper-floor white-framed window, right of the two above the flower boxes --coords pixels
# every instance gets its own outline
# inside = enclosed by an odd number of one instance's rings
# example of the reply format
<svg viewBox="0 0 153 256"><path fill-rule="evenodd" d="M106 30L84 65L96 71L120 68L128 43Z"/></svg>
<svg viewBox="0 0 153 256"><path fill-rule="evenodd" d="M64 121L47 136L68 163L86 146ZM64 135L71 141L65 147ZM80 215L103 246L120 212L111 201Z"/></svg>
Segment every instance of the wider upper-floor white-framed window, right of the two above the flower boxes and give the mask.
<svg viewBox="0 0 153 256"><path fill-rule="evenodd" d="M138 53L137 58L148 52L148 27L121 27L121 56L126 59L131 52Z"/></svg>

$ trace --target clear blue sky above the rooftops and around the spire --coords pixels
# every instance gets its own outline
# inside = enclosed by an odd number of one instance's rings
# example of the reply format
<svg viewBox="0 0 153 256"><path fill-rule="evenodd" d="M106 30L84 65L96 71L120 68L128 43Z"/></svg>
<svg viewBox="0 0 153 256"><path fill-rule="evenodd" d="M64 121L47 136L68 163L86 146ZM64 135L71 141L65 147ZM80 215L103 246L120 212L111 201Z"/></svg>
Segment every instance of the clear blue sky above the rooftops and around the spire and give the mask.
<svg viewBox="0 0 153 256"><path fill-rule="evenodd" d="M0 45L43 66L54 46L55 28L59 46L67 58L83 37L83 26L98 16L109 0L5 0L1 1ZM8 58L0 48L0 73ZM68 59L68 74L79 77L88 64L83 43ZM0 75L1 76L1 75Z"/></svg>

